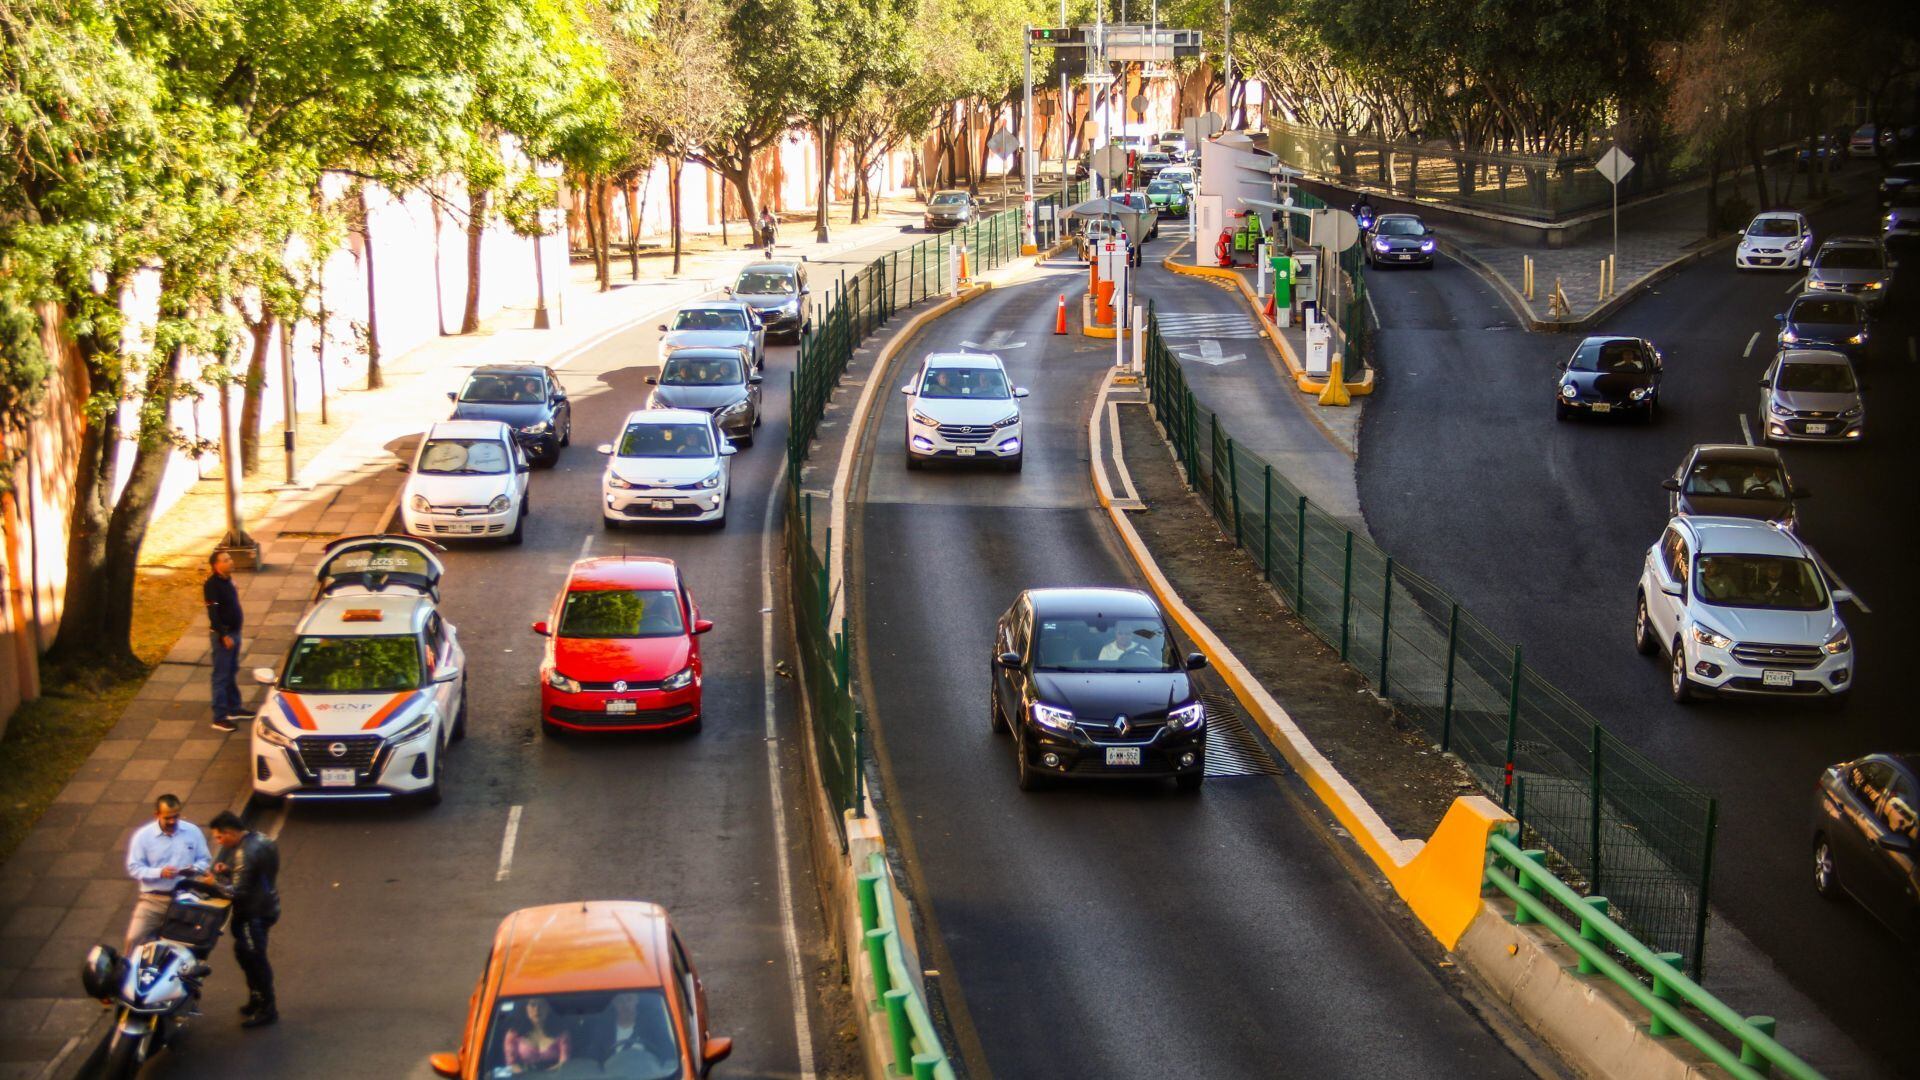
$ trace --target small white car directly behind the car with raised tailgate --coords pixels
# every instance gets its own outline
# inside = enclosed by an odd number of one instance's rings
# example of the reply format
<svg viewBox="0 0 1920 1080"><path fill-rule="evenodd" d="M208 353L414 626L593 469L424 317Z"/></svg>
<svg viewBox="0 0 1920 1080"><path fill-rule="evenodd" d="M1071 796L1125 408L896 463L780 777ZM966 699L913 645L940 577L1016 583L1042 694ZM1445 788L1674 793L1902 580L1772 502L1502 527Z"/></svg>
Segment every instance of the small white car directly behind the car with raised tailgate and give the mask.
<svg viewBox="0 0 1920 1080"><path fill-rule="evenodd" d="M505 538L526 534L526 452L501 421L440 421L420 448L399 492L399 521L411 536Z"/></svg>

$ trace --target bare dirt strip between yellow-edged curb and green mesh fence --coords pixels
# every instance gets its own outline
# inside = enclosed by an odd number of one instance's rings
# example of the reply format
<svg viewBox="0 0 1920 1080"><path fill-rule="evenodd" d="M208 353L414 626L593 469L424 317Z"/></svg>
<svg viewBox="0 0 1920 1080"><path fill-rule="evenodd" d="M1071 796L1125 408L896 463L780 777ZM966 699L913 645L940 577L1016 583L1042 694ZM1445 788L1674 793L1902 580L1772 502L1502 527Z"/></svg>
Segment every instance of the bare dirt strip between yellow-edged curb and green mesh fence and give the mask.
<svg viewBox="0 0 1920 1080"><path fill-rule="evenodd" d="M1265 582L1187 488L1152 413L1121 405L1127 471L1148 509L1131 515L1175 592L1260 678L1402 838L1425 840L1455 796L1478 788L1380 701Z"/></svg>

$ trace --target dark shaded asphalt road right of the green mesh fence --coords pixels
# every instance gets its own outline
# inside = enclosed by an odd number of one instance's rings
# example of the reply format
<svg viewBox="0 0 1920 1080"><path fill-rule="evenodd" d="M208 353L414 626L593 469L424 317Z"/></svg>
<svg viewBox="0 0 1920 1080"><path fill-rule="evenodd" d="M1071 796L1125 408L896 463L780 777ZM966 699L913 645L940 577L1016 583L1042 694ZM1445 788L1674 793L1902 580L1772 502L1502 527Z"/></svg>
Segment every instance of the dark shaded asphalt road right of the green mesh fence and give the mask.
<svg viewBox="0 0 1920 1080"><path fill-rule="evenodd" d="M1872 196L1814 215L1816 236L1874 227ZM1528 663L1609 730L1720 798L1715 907L1859 1043L1899 1055L1897 1068L1912 1067L1920 965L1857 905L1814 896L1809 822L1820 769L1914 746L1899 669L1920 648L1920 578L1895 534L1920 517L1914 269L1862 367L1866 442L1786 450L1795 482L1814 492L1801 534L1872 609L1843 611L1859 650L1845 713L1684 709L1667 700L1663 667L1632 648L1634 584L1667 521L1659 482L1697 442L1741 442L1741 415L1759 430L1772 317L1799 275L1736 273L1728 252L1609 319L1597 332L1644 334L1667 352L1661 419L1640 427L1555 423L1553 363L1576 338L1521 332L1459 263L1375 273L1382 382L1359 455L1361 505L1388 552L1524 644ZM1782 1038L1791 1045L1791 1032Z"/></svg>

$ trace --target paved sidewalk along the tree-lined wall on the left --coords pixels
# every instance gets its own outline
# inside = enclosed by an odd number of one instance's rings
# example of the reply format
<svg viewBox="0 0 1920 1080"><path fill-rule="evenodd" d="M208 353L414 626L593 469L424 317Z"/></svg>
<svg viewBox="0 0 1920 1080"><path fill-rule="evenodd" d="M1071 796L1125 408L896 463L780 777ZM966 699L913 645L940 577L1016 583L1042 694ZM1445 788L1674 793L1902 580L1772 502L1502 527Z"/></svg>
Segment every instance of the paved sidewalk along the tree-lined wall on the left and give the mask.
<svg viewBox="0 0 1920 1080"><path fill-rule="evenodd" d="M837 227L829 244L780 244L778 254L828 258L900 236L897 219ZM301 471L307 490L278 492L250 523L261 569L240 580L248 613L240 688L250 705L263 690L244 673L278 667L313 586L313 567L328 540L384 528L403 475L394 463L411 438L445 415L445 392L480 363L559 365L651 313L708 292L758 250L703 252L680 279L628 282L614 263L614 288L593 292L591 265L574 267L555 329L532 331L530 309L503 309L470 336L436 338L384 363L384 390L346 392L334 404L332 436ZM651 269L643 261L641 269ZM301 417L305 421L305 417ZM311 438L315 429L303 429ZM271 471L271 465L269 465ZM35 822L0 867L0 1080L69 1076L98 1040L106 1011L81 995L86 949L115 947L132 909L125 844L150 821L163 792L180 796L184 817L204 824L246 805L248 732L219 734L209 719L205 617L198 617L134 696L113 730ZM215 965L227 963L225 951ZM230 972L228 972L230 974Z"/></svg>

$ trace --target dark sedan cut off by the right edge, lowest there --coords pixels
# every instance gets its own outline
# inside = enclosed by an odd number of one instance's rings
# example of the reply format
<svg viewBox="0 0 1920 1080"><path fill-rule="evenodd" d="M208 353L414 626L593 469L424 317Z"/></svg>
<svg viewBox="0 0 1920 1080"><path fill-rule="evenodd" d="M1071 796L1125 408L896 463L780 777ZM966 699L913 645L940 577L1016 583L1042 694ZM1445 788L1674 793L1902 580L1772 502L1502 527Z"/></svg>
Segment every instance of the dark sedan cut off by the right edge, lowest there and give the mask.
<svg viewBox="0 0 1920 1080"><path fill-rule="evenodd" d="M1920 753L1870 753L1820 773L1812 799L1812 886L1851 896L1895 936L1920 944Z"/></svg>

